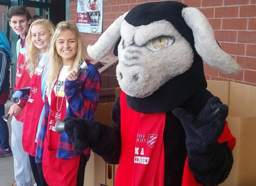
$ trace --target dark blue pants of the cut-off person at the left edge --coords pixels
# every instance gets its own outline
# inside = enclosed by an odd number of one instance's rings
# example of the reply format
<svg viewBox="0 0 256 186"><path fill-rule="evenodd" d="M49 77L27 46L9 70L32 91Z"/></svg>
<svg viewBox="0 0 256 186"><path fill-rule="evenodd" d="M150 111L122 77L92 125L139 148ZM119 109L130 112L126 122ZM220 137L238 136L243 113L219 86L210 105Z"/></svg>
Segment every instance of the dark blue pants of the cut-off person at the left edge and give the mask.
<svg viewBox="0 0 256 186"><path fill-rule="evenodd" d="M2 119L5 115L5 105L0 104L0 147L2 149L9 148L9 130L6 121Z"/></svg>

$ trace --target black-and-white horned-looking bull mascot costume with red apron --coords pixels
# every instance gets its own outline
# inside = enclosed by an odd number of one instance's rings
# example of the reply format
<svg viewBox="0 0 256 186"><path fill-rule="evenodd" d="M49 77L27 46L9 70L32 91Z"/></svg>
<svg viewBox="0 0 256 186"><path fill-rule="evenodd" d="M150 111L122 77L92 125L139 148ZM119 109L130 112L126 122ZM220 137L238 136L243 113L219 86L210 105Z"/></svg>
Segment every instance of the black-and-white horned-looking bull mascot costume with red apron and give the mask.
<svg viewBox="0 0 256 186"><path fill-rule="evenodd" d="M222 73L241 67L214 39L197 9L149 2L120 16L95 45L92 59L114 49L121 94L114 125L65 119L75 151L89 147L119 164L115 186L213 186L230 174L235 138L228 107L206 90L203 61Z"/></svg>

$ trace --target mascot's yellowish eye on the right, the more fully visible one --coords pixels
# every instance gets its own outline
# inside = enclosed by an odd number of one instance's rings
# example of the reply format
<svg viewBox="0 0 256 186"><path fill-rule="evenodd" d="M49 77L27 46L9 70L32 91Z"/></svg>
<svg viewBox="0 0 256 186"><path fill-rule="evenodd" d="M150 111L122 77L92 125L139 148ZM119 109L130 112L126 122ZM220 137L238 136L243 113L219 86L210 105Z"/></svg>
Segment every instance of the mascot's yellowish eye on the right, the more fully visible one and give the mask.
<svg viewBox="0 0 256 186"><path fill-rule="evenodd" d="M149 42L145 45L149 50L156 52L163 48L166 48L172 45L175 42L174 38L170 37L161 37L157 39L149 40Z"/></svg>

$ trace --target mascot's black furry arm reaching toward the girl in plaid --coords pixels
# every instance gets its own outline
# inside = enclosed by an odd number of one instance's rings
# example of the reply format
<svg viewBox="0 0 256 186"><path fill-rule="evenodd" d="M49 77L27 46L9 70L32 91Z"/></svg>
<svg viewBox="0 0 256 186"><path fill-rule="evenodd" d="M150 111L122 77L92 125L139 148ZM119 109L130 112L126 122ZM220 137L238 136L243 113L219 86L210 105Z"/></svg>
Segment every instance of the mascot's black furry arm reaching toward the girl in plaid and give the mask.
<svg viewBox="0 0 256 186"><path fill-rule="evenodd" d="M109 164L118 164L121 154L119 99L112 109L113 126L85 119L66 118L65 132L72 142L75 151L89 147Z"/></svg>

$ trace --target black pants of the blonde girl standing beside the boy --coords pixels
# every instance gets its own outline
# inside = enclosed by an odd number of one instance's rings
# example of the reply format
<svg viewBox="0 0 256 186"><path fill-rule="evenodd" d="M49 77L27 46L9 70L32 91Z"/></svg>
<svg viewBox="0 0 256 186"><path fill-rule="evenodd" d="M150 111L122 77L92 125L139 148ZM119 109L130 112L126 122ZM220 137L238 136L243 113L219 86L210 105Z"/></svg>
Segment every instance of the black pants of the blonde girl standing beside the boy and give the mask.
<svg viewBox="0 0 256 186"><path fill-rule="evenodd" d="M35 178L36 185L37 186L49 186L46 184L44 174L42 173L42 163L36 164L35 157L32 155L29 155L29 161L30 161L33 176Z"/></svg>

